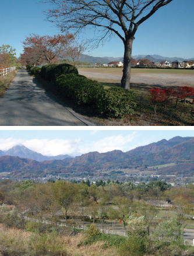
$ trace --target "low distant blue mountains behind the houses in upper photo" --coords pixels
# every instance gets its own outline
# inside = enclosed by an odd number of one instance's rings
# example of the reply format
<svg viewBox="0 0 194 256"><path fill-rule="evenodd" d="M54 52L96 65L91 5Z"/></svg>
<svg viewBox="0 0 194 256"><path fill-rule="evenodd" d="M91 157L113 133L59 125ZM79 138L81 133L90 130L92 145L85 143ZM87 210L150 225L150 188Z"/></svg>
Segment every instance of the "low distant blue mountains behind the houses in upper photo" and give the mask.
<svg viewBox="0 0 194 256"><path fill-rule="evenodd" d="M154 62L159 62L159 61L190 61L193 60L193 58L181 58L181 57L163 57L161 55L135 55L133 56L134 59L136 59L136 61L138 61L139 59L149 59L150 61L154 61ZM93 57L87 54L82 54L80 56L80 61L82 62L88 62L88 63L100 63L100 64L107 64L108 62L111 61L123 61L123 57Z"/></svg>

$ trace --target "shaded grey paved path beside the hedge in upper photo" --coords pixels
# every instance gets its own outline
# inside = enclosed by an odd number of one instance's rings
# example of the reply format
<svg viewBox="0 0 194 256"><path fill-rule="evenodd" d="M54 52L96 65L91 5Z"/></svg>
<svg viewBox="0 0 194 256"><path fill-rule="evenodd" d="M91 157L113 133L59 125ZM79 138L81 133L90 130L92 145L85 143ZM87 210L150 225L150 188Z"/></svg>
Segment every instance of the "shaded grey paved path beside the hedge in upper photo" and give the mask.
<svg viewBox="0 0 194 256"><path fill-rule="evenodd" d="M20 70L0 98L0 126L94 125L58 103L26 70Z"/></svg>

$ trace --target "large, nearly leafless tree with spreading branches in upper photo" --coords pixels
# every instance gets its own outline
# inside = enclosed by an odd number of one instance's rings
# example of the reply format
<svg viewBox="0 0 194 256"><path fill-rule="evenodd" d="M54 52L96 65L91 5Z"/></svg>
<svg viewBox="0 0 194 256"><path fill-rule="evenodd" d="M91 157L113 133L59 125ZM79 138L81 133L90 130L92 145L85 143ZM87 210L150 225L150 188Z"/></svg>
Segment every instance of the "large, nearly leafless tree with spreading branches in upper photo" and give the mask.
<svg viewBox="0 0 194 256"><path fill-rule="evenodd" d="M94 26L101 40L116 34L124 43L124 69L121 85L130 89L132 44L140 24L173 0L48 0L57 9L49 10L48 19L62 31Z"/></svg>

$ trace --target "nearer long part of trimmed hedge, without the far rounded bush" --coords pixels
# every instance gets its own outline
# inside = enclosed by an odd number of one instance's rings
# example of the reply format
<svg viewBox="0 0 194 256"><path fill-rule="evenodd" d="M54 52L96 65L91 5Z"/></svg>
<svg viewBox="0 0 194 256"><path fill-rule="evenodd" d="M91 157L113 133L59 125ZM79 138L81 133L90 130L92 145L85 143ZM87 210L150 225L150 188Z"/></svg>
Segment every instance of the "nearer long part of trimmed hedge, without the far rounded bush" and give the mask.
<svg viewBox="0 0 194 256"><path fill-rule="evenodd" d="M104 89L95 80L82 75L61 75L56 80L56 89L77 106L87 106L97 114L106 117L124 117L133 114L136 107L132 92L110 87Z"/></svg>

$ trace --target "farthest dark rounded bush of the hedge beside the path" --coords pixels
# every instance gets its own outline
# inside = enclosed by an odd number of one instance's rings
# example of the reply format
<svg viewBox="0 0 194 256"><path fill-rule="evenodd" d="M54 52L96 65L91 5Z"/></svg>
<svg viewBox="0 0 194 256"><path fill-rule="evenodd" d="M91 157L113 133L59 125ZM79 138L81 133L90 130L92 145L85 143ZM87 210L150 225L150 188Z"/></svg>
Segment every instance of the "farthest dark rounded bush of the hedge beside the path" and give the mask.
<svg viewBox="0 0 194 256"><path fill-rule="evenodd" d="M54 82L58 76L70 73L78 75L77 68L69 64L51 64L41 68L41 75L43 78Z"/></svg>

